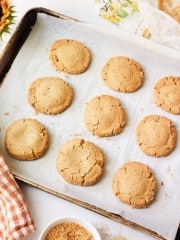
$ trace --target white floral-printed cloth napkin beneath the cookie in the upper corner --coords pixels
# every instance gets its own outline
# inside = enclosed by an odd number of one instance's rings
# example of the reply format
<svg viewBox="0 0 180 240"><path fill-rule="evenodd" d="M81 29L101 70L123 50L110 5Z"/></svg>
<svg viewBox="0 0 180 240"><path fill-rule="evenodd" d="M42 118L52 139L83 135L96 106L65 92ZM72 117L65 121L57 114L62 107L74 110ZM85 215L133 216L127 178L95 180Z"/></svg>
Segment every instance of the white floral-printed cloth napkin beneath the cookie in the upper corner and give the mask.
<svg viewBox="0 0 180 240"><path fill-rule="evenodd" d="M180 0L169 1L177 2L175 10L179 11ZM180 50L180 23L161 11L159 2L162 1L95 0L98 14L118 28Z"/></svg>

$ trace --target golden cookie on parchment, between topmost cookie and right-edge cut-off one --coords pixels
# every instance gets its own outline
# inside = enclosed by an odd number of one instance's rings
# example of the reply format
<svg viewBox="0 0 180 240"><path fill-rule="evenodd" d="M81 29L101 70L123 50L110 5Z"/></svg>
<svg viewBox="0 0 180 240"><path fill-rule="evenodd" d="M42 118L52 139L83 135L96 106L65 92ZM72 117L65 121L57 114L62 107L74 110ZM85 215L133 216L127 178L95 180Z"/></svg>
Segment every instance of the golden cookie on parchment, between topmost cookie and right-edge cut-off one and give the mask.
<svg viewBox="0 0 180 240"><path fill-rule="evenodd" d="M141 65L127 57L110 58L103 67L101 76L109 88L125 93L136 91L144 81Z"/></svg>

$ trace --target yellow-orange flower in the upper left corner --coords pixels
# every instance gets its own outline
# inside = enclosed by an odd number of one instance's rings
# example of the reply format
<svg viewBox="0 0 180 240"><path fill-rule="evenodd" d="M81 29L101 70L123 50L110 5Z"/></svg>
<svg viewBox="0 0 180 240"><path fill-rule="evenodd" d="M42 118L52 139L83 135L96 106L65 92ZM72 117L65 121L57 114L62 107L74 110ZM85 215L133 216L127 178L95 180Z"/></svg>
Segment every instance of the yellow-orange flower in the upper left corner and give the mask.
<svg viewBox="0 0 180 240"><path fill-rule="evenodd" d="M10 25L14 23L14 10L9 0L0 0L0 38L3 33L10 33Z"/></svg>

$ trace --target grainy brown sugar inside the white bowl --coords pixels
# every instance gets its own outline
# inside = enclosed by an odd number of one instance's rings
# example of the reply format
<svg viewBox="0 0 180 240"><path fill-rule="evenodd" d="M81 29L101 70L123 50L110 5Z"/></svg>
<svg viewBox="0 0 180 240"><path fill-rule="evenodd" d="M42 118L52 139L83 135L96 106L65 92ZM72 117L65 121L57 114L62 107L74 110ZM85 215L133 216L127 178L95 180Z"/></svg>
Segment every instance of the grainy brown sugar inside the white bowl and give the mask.
<svg viewBox="0 0 180 240"><path fill-rule="evenodd" d="M45 240L94 240L94 238L77 223L61 223L50 229Z"/></svg>

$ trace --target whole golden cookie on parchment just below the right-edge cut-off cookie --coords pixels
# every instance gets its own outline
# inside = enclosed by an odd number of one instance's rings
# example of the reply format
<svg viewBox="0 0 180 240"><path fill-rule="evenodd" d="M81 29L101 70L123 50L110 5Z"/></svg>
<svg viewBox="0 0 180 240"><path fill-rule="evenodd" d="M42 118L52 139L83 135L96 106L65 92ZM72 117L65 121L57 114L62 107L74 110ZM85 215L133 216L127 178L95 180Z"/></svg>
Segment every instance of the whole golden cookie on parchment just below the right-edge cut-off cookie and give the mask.
<svg viewBox="0 0 180 240"><path fill-rule="evenodd" d="M146 116L137 126L136 142L147 155L166 156L175 148L176 128L166 117Z"/></svg>

